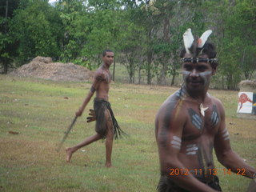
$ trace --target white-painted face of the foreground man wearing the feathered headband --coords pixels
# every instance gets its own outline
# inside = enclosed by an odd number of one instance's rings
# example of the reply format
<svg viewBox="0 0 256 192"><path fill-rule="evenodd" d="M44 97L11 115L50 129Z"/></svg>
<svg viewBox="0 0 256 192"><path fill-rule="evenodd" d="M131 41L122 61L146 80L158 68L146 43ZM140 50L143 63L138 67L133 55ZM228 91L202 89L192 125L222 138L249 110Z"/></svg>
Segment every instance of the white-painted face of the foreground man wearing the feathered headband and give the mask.
<svg viewBox="0 0 256 192"><path fill-rule="evenodd" d="M191 54L185 54L184 58L191 58ZM198 58L208 58L206 54ZM210 85L210 78L215 70L208 62L184 62L182 63L183 80L189 90L205 90Z"/></svg>

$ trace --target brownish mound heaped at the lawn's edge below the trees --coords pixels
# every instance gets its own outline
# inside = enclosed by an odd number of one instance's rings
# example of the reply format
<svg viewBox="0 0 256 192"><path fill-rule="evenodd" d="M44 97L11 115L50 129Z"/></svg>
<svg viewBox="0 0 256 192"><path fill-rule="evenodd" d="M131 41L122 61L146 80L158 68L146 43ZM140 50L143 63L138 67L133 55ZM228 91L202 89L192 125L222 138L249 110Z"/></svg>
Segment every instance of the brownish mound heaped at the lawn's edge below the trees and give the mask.
<svg viewBox="0 0 256 192"><path fill-rule="evenodd" d="M19 77L44 78L53 81L83 82L91 81L94 72L74 63L52 62L51 58L36 57L10 74Z"/></svg>

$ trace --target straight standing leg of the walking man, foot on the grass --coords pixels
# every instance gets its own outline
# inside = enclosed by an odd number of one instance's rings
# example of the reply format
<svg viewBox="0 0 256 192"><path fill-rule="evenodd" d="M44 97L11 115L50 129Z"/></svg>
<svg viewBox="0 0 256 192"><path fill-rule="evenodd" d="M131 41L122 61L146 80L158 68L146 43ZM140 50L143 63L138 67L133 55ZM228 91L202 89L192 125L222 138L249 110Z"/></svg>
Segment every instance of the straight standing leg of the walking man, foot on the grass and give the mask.
<svg viewBox="0 0 256 192"><path fill-rule="evenodd" d="M111 163L111 154L112 154L112 147L113 147L113 140L114 140L114 132L113 132L113 124L110 112L106 110L106 164L107 168L112 167Z"/></svg>

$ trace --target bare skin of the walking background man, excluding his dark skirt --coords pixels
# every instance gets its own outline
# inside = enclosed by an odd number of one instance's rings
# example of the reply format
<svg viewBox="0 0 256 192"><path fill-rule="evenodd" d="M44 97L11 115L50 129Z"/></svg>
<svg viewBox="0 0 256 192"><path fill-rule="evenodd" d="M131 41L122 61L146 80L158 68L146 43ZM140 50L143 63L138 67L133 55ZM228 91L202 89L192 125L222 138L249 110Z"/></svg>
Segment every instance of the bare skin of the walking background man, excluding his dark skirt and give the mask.
<svg viewBox="0 0 256 192"><path fill-rule="evenodd" d="M108 101L109 96L109 90L110 90L110 82L111 82L111 74L110 74L110 65L114 62L114 53L113 52L106 52L106 55L102 57L102 66L96 70L94 74L94 82L90 88L89 93L87 94L86 98L82 102L82 106L79 107L79 109L76 111L75 115L76 116L81 116L83 111L85 110L88 102L90 102L90 99L94 95L94 92L96 92L96 97L97 98L103 98L106 101ZM90 122L95 120L94 117L94 112L90 112L90 114L93 115L92 118L90 118ZM106 110L105 112L106 116L106 167L111 167L111 154L112 154L112 146L113 146L113 139L114 139L114 133L112 130L112 119L110 115L110 111ZM73 147L68 147L66 148L66 162L70 162L72 154L78 149L80 149L83 146L87 146L92 142L96 142L99 139L102 138L102 135L96 133L89 138L86 138L83 142L79 143L76 146Z"/></svg>

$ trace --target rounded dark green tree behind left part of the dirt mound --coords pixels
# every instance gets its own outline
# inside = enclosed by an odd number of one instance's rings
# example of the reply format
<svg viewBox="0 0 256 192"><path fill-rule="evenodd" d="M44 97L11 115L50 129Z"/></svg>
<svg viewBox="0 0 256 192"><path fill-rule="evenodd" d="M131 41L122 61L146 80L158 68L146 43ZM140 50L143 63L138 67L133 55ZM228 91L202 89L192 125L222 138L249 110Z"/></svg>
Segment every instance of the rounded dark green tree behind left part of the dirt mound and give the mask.
<svg viewBox="0 0 256 192"><path fill-rule="evenodd" d="M18 58L27 62L35 56L58 58L60 19L46 1L29 2L14 12L10 31L18 42Z"/></svg>

